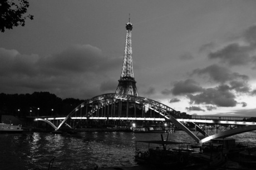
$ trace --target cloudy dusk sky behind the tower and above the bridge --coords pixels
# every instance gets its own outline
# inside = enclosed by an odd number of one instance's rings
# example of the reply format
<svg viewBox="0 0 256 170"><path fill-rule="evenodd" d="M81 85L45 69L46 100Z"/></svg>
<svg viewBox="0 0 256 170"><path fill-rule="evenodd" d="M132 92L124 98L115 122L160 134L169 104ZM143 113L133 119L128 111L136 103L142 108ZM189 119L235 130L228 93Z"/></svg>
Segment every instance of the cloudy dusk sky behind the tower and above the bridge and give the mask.
<svg viewBox="0 0 256 170"><path fill-rule="evenodd" d="M0 93L115 93L126 23L139 96L198 115L256 116L256 1L29 1L0 33Z"/></svg>

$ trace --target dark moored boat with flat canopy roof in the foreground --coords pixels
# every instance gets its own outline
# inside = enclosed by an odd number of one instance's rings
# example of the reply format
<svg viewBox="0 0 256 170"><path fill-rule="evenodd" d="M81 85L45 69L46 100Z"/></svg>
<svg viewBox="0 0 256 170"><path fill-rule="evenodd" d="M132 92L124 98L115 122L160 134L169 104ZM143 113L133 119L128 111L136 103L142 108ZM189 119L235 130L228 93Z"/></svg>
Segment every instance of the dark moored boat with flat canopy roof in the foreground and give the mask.
<svg viewBox="0 0 256 170"><path fill-rule="evenodd" d="M161 168L188 168L195 166L207 166L207 164L196 161L193 158L195 151L194 149L189 149L189 143L174 141L135 142L135 161L138 164L150 164L152 166ZM148 148L146 149L145 145L142 146L141 143L148 144ZM181 148L181 145L183 145L184 148Z"/></svg>

